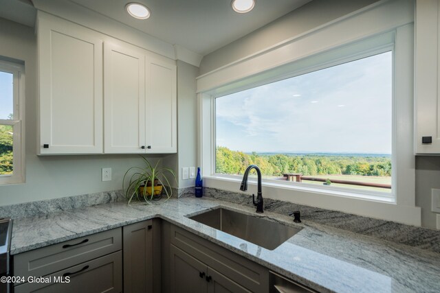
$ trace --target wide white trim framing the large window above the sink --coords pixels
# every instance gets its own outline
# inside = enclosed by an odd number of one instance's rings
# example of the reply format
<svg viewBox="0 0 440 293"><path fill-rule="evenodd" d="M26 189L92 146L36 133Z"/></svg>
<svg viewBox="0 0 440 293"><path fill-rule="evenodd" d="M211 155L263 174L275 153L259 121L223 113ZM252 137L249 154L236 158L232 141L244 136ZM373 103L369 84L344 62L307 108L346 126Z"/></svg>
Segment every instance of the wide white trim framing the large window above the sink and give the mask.
<svg viewBox="0 0 440 293"><path fill-rule="evenodd" d="M420 226L421 209L415 207L415 156L412 143L414 27L413 19L408 16L412 15L413 3L412 1L404 1L404 3L408 5L406 10L409 11L402 12L404 15L401 17L396 16L395 12L397 11L396 5L400 5L401 9L402 1L381 1L379 4L372 5L371 9L350 15L347 19L331 23L328 27L320 27L319 30L310 32L298 40L270 48L267 52L250 56L199 77L197 80L199 165L202 167L204 185L240 192L239 178L214 174L214 97L233 93L237 89L244 90L272 82L281 79L283 74L292 75L292 68L296 64L311 56L331 54L333 49L337 52L344 46L355 47L357 43L362 43L361 47L367 54L366 44L371 44L371 50L380 50L381 42L382 49L389 47L390 43L386 40L392 36L392 43L395 47L394 80L395 84L399 85L393 86L395 97L393 98L392 163L395 198L390 199L374 194L362 195L355 191L320 189L294 183L274 183L273 181L263 181L263 197ZM393 13L390 14L390 12ZM384 15L393 17L384 19ZM375 22L371 22L371 19L375 19ZM379 27L378 23L380 23ZM359 29L360 27L362 30ZM344 36L340 36L341 28L344 29ZM316 43L316 40L320 42ZM280 51L285 51L287 54L280 54ZM274 64L276 67L272 66ZM313 67L303 68L305 71L310 71ZM252 71L249 71L250 69ZM252 187L255 184L255 182L250 182L249 193L255 189Z"/></svg>

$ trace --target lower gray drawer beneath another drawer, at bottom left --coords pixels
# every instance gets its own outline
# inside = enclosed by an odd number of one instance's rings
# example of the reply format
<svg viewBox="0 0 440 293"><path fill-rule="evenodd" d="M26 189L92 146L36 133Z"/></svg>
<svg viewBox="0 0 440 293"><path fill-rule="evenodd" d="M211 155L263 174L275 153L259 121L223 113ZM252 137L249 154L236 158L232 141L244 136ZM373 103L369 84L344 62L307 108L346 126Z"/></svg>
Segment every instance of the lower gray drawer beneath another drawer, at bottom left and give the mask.
<svg viewBox="0 0 440 293"><path fill-rule="evenodd" d="M68 276L63 277L63 276ZM60 279L65 281L61 283ZM122 252L111 253L72 268L43 277L39 283L14 287L14 293L99 293L122 292ZM69 283L67 283L67 281Z"/></svg>

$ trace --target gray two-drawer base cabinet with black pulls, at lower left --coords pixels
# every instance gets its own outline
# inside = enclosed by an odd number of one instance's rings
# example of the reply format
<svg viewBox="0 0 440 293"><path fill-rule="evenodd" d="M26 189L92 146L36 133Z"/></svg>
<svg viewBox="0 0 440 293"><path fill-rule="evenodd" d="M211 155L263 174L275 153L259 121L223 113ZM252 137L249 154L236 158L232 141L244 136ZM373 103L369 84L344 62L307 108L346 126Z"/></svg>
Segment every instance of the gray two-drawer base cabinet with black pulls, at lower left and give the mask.
<svg viewBox="0 0 440 293"><path fill-rule="evenodd" d="M14 292L122 292L122 230L79 237L13 258Z"/></svg>

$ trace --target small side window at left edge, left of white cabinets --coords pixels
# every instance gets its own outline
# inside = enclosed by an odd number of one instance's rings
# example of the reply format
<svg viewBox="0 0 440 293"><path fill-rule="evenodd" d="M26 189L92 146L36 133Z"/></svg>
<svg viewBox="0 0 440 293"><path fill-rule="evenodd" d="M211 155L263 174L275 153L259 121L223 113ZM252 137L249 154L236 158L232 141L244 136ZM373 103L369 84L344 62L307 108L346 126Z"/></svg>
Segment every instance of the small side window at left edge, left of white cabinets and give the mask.
<svg viewBox="0 0 440 293"><path fill-rule="evenodd" d="M23 66L0 60L0 184L24 182Z"/></svg>

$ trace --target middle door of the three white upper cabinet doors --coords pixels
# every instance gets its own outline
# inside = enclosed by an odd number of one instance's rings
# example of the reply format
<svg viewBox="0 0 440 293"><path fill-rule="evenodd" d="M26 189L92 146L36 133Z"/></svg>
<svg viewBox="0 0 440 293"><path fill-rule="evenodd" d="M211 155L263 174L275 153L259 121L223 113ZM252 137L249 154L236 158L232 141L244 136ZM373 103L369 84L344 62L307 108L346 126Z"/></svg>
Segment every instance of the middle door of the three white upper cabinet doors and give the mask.
<svg viewBox="0 0 440 293"><path fill-rule="evenodd" d="M144 55L123 47L105 43L105 153L145 152L144 108Z"/></svg>

